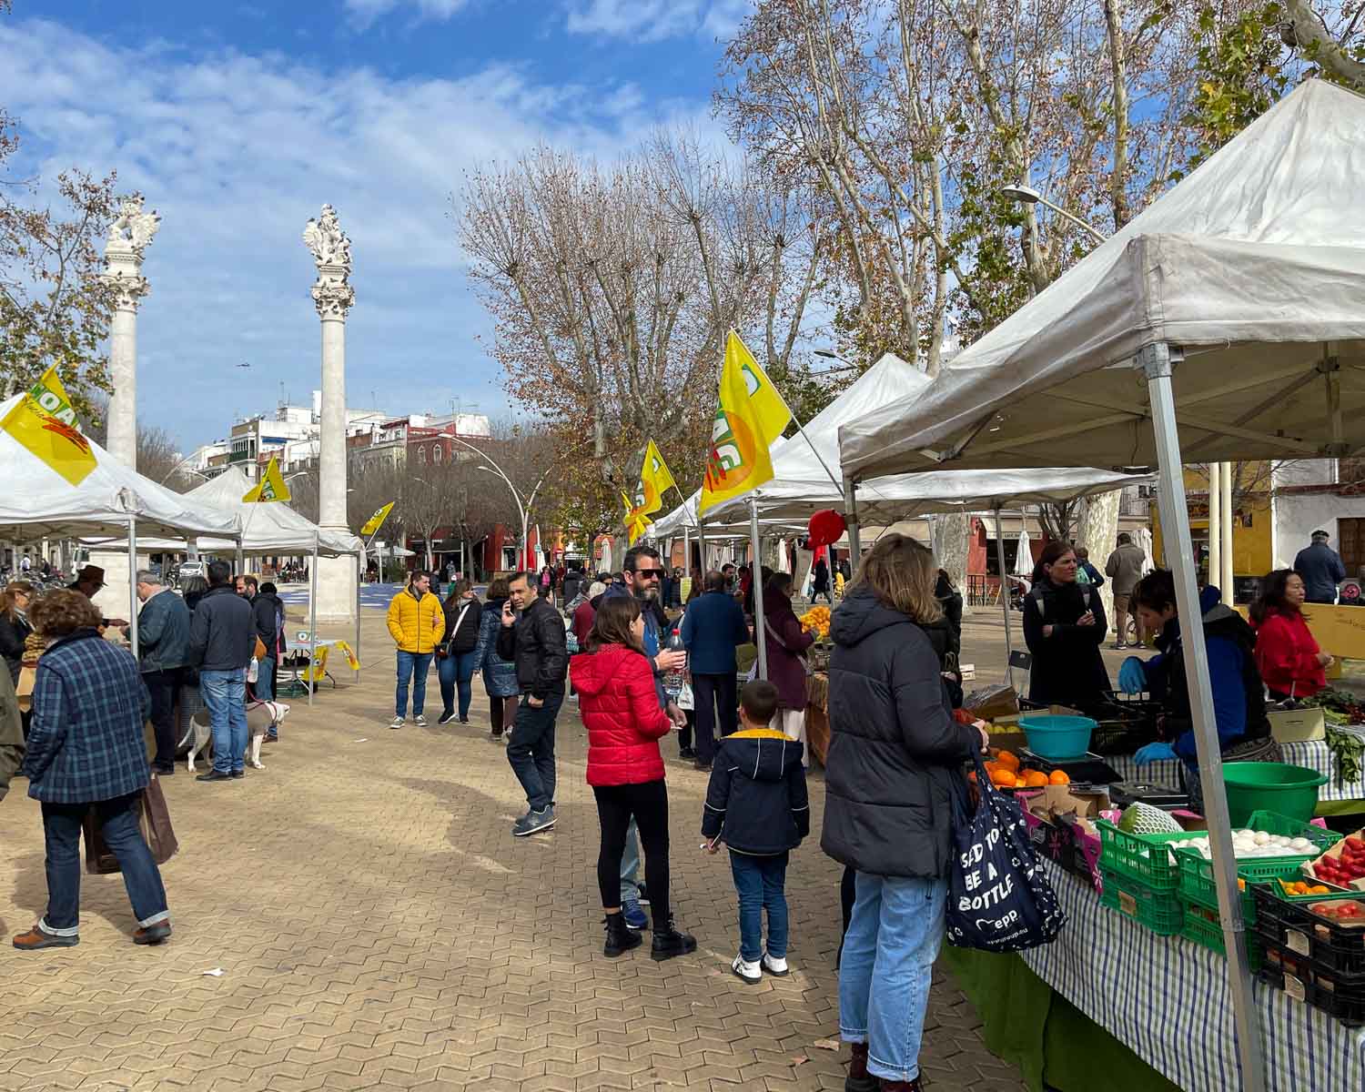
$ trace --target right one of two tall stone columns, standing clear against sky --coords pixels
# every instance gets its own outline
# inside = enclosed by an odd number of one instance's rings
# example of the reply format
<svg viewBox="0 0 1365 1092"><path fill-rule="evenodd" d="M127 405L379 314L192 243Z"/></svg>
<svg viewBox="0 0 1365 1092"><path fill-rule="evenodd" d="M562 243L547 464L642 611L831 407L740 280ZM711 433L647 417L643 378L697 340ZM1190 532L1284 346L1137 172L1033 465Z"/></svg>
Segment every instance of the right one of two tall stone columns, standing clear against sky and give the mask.
<svg viewBox="0 0 1365 1092"><path fill-rule="evenodd" d="M351 240L341 231L336 209L324 205L318 218L310 220L303 229L303 242L318 268L313 302L322 321L318 523L328 531L347 532L345 317L355 303L355 289L349 284ZM318 561L318 622L355 624L359 576L355 558Z"/></svg>

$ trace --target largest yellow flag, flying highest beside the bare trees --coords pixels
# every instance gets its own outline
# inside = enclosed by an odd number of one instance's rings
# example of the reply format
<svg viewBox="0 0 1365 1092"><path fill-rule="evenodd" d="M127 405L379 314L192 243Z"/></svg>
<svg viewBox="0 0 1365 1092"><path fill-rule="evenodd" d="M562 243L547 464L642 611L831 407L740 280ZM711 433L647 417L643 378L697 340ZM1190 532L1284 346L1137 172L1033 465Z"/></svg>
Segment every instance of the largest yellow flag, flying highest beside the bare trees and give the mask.
<svg viewBox="0 0 1365 1092"><path fill-rule="evenodd" d="M758 489L773 479L768 445L782 435L792 411L740 336L730 330L721 369L721 392L711 425L700 511Z"/></svg>

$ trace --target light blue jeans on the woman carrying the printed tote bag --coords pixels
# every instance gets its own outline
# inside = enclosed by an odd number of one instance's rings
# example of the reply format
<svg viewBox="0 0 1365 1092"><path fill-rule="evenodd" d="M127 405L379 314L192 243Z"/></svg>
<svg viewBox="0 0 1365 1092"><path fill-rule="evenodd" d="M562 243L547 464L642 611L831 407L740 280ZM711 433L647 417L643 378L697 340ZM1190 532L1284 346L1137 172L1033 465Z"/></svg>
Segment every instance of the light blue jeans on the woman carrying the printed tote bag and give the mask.
<svg viewBox="0 0 1365 1092"><path fill-rule="evenodd" d="M913 1081L943 940L946 879L859 872L839 958L839 1037L867 1043L867 1072Z"/></svg>

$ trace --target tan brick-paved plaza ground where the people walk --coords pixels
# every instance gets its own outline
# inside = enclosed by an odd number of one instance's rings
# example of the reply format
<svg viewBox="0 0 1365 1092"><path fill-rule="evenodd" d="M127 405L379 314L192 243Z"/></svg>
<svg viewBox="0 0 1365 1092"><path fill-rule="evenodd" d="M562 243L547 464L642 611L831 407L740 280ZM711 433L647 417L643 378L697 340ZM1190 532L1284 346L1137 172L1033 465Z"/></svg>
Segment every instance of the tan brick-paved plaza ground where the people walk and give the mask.
<svg viewBox="0 0 1365 1092"><path fill-rule="evenodd" d="M0 949L0 1089L842 1088L848 1050L826 1048L839 867L818 834L788 879L793 973L745 986L729 867L698 849L706 775L666 740L674 905L699 947L606 960L576 708L560 717L560 823L513 839L524 799L482 687L474 723L437 728L433 673L433 725L390 732L392 646L378 612L363 627L362 681L339 673L311 713L295 700L265 770L205 785L180 763L165 781L169 943L135 947L120 878L85 876L78 947ZM964 661L998 677L999 618L979 610L964 636ZM0 803L5 936L46 898L25 788ZM819 831L819 771L811 803ZM931 1088L1022 1088L943 975L923 1063Z"/></svg>

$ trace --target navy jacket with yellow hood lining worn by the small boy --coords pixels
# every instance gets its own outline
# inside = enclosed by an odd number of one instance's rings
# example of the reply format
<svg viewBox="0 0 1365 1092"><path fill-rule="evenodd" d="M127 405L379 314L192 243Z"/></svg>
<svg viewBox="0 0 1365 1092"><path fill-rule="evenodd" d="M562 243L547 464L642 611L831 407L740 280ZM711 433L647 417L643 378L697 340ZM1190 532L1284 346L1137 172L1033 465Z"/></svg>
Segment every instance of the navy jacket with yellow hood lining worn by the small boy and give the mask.
<svg viewBox="0 0 1365 1092"><path fill-rule="evenodd" d="M702 835L736 853L773 856L811 833L811 803L796 740L771 728L726 736L715 751Z"/></svg>

